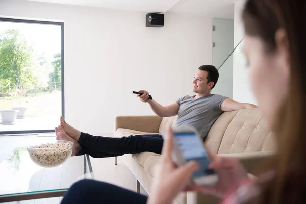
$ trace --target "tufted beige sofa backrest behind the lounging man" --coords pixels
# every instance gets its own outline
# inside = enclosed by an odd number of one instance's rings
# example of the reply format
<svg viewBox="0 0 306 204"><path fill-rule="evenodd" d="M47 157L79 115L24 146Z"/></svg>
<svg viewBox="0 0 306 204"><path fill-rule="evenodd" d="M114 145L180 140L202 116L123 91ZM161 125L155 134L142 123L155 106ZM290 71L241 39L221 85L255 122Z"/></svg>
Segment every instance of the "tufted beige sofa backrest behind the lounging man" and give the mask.
<svg viewBox="0 0 306 204"><path fill-rule="evenodd" d="M177 116L163 118L160 133L174 124ZM213 154L273 151L273 135L259 109L223 113L213 124L205 146Z"/></svg>

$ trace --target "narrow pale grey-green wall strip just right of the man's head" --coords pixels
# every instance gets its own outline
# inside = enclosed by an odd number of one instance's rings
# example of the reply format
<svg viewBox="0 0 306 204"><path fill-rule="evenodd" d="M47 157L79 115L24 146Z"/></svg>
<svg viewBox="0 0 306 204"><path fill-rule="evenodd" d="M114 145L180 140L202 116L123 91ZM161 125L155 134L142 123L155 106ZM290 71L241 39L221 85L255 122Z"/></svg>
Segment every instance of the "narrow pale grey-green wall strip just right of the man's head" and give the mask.
<svg viewBox="0 0 306 204"><path fill-rule="evenodd" d="M213 65L217 68L233 51L234 46L234 20L214 18L213 25ZM219 69L219 79L212 93L233 98L233 55Z"/></svg>

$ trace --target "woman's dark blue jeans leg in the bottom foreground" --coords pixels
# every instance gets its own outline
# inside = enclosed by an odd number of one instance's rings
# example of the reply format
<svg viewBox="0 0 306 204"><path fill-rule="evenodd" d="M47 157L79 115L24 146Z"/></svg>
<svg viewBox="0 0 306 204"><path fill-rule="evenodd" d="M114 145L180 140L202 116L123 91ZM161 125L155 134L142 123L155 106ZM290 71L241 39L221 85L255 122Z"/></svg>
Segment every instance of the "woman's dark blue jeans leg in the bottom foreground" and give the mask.
<svg viewBox="0 0 306 204"><path fill-rule="evenodd" d="M74 183L61 204L137 203L145 204L147 197L118 186L94 180Z"/></svg>

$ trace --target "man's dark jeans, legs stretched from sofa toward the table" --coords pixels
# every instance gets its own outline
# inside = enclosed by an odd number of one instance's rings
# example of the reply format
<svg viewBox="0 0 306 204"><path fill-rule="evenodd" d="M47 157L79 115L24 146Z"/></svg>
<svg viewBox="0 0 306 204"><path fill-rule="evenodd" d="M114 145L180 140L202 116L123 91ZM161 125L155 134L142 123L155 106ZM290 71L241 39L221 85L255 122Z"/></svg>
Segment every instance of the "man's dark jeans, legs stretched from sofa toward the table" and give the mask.
<svg viewBox="0 0 306 204"><path fill-rule="evenodd" d="M80 149L77 155L88 154L94 158L103 158L144 151L161 154L164 140L159 134L130 135L129 137L113 138L81 133L78 142Z"/></svg>

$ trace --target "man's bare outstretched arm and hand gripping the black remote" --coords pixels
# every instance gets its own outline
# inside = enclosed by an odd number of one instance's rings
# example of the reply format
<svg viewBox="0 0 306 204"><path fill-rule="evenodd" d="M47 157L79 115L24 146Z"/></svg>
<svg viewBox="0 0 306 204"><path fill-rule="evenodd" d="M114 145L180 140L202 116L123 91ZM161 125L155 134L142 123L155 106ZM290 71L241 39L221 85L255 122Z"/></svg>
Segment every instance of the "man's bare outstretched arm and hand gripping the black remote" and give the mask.
<svg viewBox="0 0 306 204"><path fill-rule="evenodd" d="M180 105L176 102L173 104L170 104L168 106L162 106L159 103L157 103L154 99L150 100L149 98L149 92L145 90L140 90L139 92L142 92L141 96L137 95L142 102L147 102L150 106L152 111L160 116L160 117L171 117L177 115L179 113Z"/></svg>

